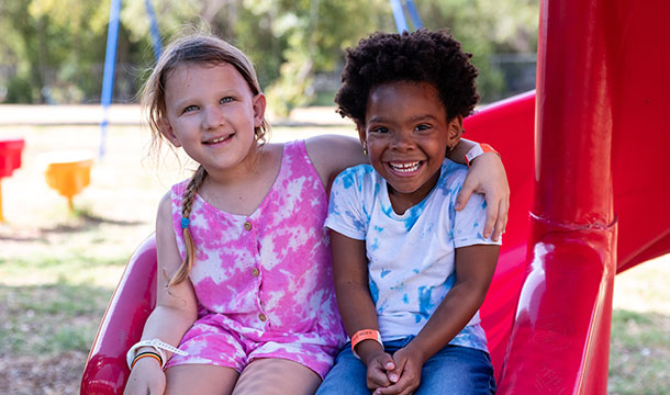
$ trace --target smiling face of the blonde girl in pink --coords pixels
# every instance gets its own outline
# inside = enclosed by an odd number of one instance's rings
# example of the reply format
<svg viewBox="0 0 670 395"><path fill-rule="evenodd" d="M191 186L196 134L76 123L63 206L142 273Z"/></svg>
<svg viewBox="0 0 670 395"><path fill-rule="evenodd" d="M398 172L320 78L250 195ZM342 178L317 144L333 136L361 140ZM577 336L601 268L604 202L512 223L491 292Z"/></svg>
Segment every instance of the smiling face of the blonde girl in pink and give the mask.
<svg viewBox="0 0 670 395"><path fill-rule="evenodd" d="M208 172L248 163L265 97L230 64L186 64L166 78L161 133Z"/></svg>

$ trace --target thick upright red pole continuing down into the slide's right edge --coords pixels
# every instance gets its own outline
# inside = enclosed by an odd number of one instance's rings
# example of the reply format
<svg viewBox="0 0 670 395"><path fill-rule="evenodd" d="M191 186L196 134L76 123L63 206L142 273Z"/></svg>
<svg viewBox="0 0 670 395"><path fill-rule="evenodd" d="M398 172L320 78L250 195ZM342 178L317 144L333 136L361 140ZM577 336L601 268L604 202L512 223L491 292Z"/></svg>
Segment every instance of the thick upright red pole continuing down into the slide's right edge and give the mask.
<svg viewBox="0 0 670 395"><path fill-rule="evenodd" d="M528 274L500 394L606 393L616 270L606 7L541 1Z"/></svg>

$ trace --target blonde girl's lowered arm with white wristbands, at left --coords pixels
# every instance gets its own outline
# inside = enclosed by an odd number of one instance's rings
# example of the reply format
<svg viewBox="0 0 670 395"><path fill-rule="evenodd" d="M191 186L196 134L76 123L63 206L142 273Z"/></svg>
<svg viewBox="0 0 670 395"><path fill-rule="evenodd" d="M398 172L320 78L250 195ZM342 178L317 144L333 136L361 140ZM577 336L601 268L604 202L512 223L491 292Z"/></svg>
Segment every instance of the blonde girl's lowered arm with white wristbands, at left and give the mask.
<svg viewBox="0 0 670 395"><path fill-rule="evenodd" d="M169 276L181 264L181 256L172 230L169 193L163 198L158 206L156 249L158 259L156 307L144 326L142 340L159 339L177 347L198 316L198 304L188 279L166 290ZM137 353L152 350L152 348L141 348ZM143 358L137 360L131 371L124 394L163 394L165 386L165 374L158 361Z"/></svg>

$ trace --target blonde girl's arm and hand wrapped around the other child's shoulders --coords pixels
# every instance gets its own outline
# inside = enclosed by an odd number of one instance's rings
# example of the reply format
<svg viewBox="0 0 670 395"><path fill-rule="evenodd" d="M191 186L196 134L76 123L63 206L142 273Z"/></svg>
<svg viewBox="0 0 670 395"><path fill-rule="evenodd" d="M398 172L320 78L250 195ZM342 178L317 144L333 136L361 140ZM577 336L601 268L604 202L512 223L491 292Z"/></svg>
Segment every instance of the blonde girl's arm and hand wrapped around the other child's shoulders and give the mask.
<svg viewBox="0 0 670 395"><path fill-rule="evenodd" d="M474 144L461 138L449 154L449 159L465 163L466 153ZM308 138L305 146L326 191L330 191L333 180L342 170L368 162L368 158L362 155L360 142L351 137L321 135ZM510 185L505 168L500 156L492 153L482 154L471 165L462 190L458 194L456 210L465 207L472 193L483 193L487 199L487 222L483 235L489 237L492 233L493 240L498 240L507 224L507 211L510 210Z"/></svg>

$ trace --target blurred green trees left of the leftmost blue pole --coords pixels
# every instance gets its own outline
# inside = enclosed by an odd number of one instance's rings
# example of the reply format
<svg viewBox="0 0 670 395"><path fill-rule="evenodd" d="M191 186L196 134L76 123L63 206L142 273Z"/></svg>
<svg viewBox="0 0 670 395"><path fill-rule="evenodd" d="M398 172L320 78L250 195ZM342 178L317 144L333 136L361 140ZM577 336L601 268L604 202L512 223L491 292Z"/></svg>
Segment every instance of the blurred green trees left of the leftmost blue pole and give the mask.
<svg viewBox="0 0 670 395"><path fill-rule="evenodd" d="M0 50L11 54L16 67L14 78L29 81L32 87L29 91L16 92L13 87L23 84L10 84L8 101L13 95L42 103L85 97L83 90L87 82L90 84L91 76L81 72L98 65L100 54L104 54L103 3L5 0L0 4L0 25L10 34L7 47Z"/></svg>

